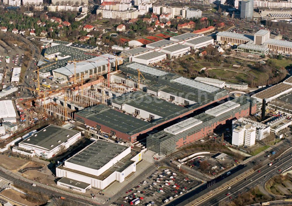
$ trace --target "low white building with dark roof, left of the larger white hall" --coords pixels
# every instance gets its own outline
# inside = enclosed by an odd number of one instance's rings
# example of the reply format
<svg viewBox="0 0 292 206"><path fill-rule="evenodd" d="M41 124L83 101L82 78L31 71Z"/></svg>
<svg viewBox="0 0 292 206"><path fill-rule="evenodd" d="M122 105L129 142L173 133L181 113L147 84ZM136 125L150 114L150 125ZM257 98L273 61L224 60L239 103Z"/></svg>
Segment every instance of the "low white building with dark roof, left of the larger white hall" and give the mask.
<svg viewBox="0 0 292 206"><path fill-rule="evenodd" d="M40 131L31 134L18 144L22 150L17 152L26 155L34 153L38 157L50 159L62 153L81 138L81 132L55 125L48 125Z"/></svg>

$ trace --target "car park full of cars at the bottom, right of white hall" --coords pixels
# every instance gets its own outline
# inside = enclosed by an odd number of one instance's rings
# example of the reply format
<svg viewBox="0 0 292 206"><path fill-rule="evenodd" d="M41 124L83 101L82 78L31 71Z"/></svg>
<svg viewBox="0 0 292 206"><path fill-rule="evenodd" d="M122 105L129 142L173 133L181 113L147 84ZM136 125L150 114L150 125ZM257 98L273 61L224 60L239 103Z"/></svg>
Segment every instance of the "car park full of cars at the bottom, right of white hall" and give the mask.
<svg viewBox="0 0 292 206"><path fill-rule="evenodd" d="M137 205L162 205L178 196L190 191L201 182L188 178L178 171L161 169L156 170L146 180L142 180L139 185L128 188L124 197L120 197L113 205L135 205L131 202L139 198Z"/></svg>

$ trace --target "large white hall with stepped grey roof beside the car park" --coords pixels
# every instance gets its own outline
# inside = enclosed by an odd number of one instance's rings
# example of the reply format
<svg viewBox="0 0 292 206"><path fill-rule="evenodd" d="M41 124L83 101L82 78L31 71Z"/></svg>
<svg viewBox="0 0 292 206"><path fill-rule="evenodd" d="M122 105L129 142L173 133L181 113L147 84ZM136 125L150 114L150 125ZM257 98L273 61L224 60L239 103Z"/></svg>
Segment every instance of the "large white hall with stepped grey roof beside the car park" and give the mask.
<svg viewBox="0 0 292 206"><path fill-rule="evenodd" d="M91 187L105 189L130 177L141 159L141 151L99 139L56 167L56 176L62 177L58 185L80 192ZM80 187L70 185L70 181L80 182Z"/></svg>

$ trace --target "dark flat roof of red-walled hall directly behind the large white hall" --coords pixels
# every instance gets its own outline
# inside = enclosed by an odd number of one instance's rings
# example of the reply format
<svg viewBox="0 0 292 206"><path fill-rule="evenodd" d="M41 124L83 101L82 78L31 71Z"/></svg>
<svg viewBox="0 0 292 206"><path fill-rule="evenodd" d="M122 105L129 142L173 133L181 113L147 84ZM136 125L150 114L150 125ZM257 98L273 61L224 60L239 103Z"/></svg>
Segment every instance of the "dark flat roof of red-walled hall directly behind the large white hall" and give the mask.
<svg viewBox="0 0 292 206"><path fill-rule="evenodd" d="M123 133L142 132L152 126L151 123L126 115L105 105L97 105L75 113L96 123L106 125Z"/></svg>

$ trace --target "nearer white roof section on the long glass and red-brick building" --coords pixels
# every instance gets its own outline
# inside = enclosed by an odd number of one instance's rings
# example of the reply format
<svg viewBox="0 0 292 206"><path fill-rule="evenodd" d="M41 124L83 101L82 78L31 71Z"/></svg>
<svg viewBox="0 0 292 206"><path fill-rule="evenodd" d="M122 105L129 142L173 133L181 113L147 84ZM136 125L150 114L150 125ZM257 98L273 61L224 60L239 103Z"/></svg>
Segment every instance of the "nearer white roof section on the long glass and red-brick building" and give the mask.
<svg viewBox="0 0 292 206"><path fill-rule="evenodd" d="M191 118L188 118L184 121L176 123L168 128L165 128L164 131L171 133L173 135L177 135L177 134L184 132L184 131L186 131L194 126L197 126L201 123L203 123L203 121L191 117Z"/></svg>

